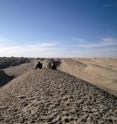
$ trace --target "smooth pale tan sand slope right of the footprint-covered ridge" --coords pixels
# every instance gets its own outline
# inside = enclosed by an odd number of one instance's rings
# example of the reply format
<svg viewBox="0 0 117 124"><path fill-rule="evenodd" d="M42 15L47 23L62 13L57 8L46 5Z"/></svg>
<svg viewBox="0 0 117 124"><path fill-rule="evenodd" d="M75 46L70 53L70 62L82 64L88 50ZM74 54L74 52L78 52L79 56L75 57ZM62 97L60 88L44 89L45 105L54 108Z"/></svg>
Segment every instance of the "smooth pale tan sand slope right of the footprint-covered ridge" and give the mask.
<svg viewBox="0 0 117 124"><path fill-rule="evenodd" d="M60 70L117 96L116 67L117 59L62 59Z"/></svg>

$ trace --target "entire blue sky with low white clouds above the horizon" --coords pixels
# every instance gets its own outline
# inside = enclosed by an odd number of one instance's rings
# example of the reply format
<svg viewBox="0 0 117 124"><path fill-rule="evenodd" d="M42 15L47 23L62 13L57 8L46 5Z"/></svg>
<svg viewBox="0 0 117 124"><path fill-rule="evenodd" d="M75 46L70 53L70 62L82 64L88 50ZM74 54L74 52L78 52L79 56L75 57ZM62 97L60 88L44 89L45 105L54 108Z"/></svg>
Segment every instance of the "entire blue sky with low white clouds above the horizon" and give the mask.
<svg viewBox="0 0 117 124"><path fill-rule="evenodd" d="M117 57L117 0L0 0L0 56Z"/></svg>

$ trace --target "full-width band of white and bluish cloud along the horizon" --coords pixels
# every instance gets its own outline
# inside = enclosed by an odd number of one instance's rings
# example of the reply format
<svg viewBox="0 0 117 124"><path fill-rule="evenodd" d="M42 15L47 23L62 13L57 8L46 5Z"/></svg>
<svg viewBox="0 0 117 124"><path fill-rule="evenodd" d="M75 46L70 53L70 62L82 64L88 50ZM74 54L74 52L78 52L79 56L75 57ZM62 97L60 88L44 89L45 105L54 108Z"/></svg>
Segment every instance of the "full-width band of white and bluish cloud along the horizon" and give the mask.
<svg viewBox="0 0 117 124"><path fill-rule="evenodd" d="M0 56L24 57L99 57L115 56L117 40L102 38L98 43L91 43L84 39L77 39L72 44L62 42L35 42L23 45L13 45L12 42L0 42Z"/></svg>

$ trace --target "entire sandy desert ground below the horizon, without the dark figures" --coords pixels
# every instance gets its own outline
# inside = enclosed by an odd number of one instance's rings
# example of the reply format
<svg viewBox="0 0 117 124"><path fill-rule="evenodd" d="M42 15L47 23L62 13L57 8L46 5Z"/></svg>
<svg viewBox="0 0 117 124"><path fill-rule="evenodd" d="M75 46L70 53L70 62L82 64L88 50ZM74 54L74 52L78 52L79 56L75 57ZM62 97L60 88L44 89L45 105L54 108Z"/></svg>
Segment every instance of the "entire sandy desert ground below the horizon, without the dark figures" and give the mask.
<svg viewBox="0 0 117 124"><path fill-rule="evenodd" d="M117 123L117 59L48 60L1 62L0 124Z"/></svg>

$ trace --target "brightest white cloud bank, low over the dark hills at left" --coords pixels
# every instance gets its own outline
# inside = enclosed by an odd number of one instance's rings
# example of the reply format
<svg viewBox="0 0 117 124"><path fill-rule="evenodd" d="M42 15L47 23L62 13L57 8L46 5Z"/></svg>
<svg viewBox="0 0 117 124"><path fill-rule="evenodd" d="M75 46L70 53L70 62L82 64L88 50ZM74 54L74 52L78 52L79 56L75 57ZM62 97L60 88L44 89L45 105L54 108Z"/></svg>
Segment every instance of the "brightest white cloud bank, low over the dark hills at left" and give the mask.
<svg viewBox="0 0 117 124"><path fill-rule="evenodd" d="M29 45L12 46L0 44L0 56L51 57L58 56L64 48L57 43L35 43Z"/></svg>

